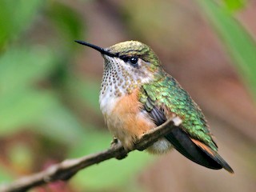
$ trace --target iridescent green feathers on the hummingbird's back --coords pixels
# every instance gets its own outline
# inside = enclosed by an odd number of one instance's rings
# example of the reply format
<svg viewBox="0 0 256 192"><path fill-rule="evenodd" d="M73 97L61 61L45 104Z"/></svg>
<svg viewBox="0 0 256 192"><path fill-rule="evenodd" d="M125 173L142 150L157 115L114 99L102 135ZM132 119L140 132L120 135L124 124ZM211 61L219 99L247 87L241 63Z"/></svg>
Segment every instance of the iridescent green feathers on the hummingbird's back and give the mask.
<svg viewBox="0 0 256 192"><path fill-rule="evenodd" d="M150 98L158 108L165 106L181 117L182 129L190 134L191 138L196 138L217 151L218 147L211 138L202 111L170 74L166 74L163 70L158 71L154 81L142 86L139 100L148 108L147 110L150 110L153 106L152 103L146 102L147 98Z"/></svg>

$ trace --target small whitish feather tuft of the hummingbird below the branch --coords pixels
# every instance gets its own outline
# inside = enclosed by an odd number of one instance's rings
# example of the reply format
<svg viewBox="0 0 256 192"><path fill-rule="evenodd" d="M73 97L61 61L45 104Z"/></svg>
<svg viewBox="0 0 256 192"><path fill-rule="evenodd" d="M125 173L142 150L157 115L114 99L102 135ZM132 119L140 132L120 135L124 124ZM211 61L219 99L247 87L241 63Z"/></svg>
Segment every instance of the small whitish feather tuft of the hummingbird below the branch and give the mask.
<svg viewBox="0 0 256 192"><path fill-rule="evenodd" d="M154 144L146 149L150 154L166 154L170 151L173 146L166 140L166 138L161 138L158 142L154 142Z"/></svg>

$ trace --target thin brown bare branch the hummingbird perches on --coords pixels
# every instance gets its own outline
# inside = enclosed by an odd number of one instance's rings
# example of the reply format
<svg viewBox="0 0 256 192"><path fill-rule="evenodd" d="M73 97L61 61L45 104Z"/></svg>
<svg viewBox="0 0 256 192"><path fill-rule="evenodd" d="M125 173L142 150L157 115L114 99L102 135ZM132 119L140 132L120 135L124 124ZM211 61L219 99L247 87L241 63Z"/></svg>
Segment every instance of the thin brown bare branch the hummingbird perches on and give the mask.
<svg viewBox="0 0 256 192"><path fill-rule="evenodd" d="M154 130L150 130L146 134L142 135L142 138L138 139L138 142L134 144L133 150L145 150L148 146L158 141L158 138L162 138L165 134L175 127L179 126L182 120L178 117L168 120L161 126L156 127ZM114 145L108 150L96 154L86 155L82 158L67 159L54 166L50 166L46 170L43 170L37 174L31 174L29 176L18 179L10 184L0 186L0 191L3 192L17 192L26 191L34 186L41 186L49 182L55 182L58 180L67 180L74 176L79 170L87 166L103 162L110 158L125 158L130 152L126 151L121 142L115 142Z"/></svg>

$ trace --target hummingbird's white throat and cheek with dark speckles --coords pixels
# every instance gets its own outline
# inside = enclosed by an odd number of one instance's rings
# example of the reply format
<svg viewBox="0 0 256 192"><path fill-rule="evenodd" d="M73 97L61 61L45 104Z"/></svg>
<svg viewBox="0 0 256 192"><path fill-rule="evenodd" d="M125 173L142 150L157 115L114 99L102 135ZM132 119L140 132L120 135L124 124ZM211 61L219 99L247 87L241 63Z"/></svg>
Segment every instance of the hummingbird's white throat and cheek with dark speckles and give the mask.
<svg viewBox="0 0 256 192"><path fill-rule="evenodd" d="M131 94L143 83L150 82L153 74L149 73L148 67L141 60L138 61L138 67L134 68L121 58L104 54L102 56L105 62L99 102L102 113L107 114L112 109L114 100Z"/></svg>

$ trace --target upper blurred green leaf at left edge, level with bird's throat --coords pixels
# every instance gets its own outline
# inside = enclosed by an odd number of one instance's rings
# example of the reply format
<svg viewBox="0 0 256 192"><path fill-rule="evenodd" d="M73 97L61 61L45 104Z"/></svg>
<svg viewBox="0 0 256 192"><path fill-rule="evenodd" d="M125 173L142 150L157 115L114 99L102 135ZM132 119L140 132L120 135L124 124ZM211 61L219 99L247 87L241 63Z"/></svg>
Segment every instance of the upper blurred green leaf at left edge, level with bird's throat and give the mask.
<svg viewBox="0 0 256 192"><path fill-rule="evenodd" d="M54 54L46 47L10 48L0 58L0 94L35 86L55 68Z"/></svg>

